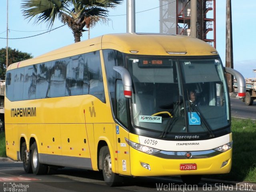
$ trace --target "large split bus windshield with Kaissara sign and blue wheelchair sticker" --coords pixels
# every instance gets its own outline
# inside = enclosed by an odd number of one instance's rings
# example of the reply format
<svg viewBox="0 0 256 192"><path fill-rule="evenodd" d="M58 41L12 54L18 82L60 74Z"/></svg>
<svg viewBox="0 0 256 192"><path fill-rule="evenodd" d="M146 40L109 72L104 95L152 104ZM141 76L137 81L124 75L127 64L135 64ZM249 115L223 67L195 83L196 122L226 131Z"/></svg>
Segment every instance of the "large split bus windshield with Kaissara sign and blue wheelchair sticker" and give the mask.
<svg viewBox="0 0 256 192"><path fill-rule="evenodd" d="M226 82L219 58L128 56L135 126L168 133L229 126Z"/></svg>

